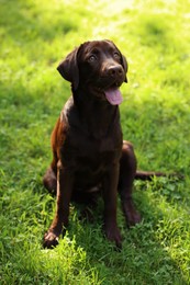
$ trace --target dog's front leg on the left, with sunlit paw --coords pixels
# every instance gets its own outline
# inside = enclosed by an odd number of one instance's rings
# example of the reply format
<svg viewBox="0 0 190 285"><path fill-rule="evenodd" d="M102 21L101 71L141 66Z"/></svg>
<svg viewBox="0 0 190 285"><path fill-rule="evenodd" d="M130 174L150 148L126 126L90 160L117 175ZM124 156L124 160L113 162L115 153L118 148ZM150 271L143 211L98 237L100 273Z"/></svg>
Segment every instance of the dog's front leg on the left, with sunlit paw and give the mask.
<svg viewBox="0 0 190 285"><path fill-rule="evenodd" d="M63 227L68 226L69 203L71 198L74 174L60 163L57 169L57 208L54 220L44 236L44 248L53 248L58 243Z"/></svg>

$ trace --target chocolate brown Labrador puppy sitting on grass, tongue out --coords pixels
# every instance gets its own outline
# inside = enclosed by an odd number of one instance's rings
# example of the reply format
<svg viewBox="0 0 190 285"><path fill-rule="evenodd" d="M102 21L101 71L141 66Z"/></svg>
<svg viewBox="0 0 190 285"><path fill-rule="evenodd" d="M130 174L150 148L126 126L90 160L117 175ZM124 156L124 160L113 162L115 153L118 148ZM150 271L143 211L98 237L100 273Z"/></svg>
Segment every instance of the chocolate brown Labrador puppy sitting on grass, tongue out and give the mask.
<svg viewBox="0 0 190 285"><path fill-rule="evenodd" d="M127 61L111 41L93 41L71 52L57 69L71 82L72 96L52 134L53 161L44 185L57 193L57 208L44 236L44 247L58 243L68 225L71 197L99 191L104 201L104 232L121 248L118 192L127 224L139 223L132 201L133 181L148 175L136 172L133 146L122 136L120 87L127 82Z"/></svg>

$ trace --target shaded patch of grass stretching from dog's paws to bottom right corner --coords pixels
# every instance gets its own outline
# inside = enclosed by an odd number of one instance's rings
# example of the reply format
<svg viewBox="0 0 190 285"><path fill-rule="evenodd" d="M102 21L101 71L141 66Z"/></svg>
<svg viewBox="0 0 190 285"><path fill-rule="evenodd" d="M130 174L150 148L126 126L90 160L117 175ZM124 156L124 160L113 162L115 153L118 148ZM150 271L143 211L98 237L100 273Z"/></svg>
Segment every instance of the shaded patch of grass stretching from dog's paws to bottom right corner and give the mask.
<svg viewBox="0 0 190 285"><path fill-rule="evenodd" d="M156 237L156 225L161 217L159 209L149 203L144 204L144 221L127 229L124 219L120 220L123 249L118 252L102 232L102 205L93 213L94 223L78 221L74 215L68 236L82 247L91 266L100 278L116 281L120 284L188 284L181 270ZM121 210L119 210L121 215ZM153 214L154 213L154 217ZM152 216L150 216L150 215ZM119 218L121 219L121 217ZM114 283L113 283L114 284Z"/></svg>

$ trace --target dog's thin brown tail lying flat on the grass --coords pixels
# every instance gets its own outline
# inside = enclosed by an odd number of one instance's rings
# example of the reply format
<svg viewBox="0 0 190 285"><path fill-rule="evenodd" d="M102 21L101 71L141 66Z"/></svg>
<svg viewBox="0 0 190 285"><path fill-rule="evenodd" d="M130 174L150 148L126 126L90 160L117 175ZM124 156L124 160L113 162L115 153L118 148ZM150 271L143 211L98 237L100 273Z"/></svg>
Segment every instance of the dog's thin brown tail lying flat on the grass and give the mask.
<svg viewBox="0 0 190 285"><path fill-rule="evenodd" d="M164 172L155 172L155 171L136 171L135 179L136 180L153 180L153 178L168 178L168 179L179 179L182 180L185 176L179 173L164 173Z"/></svg>

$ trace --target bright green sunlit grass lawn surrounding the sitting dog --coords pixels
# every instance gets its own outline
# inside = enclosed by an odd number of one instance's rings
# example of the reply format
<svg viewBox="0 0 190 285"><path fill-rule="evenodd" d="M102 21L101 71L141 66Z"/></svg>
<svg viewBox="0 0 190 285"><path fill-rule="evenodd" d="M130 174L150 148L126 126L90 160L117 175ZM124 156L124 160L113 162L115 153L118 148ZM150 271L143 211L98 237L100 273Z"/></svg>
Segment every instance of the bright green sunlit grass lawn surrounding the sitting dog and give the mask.
<svg viewBox="0 0 190 285"><path fill-rule="evenodd" d="M0 0L1 284L190 284L188 11L188 0ZM96 38L113 39L128 59L121 118L138 167L186 179L135 182L144 218L128 230L119 209L121 252L103 238L102 205L93 224L79 220L71 205L66 237L43 250L55 200L42 176L52 128L70 94L56 67Z"/></svg>

